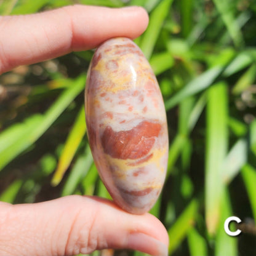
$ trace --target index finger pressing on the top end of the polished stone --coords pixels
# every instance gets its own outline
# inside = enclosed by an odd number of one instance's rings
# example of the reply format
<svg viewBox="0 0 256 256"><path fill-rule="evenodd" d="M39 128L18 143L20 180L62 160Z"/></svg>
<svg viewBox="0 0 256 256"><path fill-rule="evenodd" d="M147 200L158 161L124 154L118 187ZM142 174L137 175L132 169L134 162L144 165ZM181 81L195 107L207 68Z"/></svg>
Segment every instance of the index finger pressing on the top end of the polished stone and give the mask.
<svg viewBox="0 0 256 256"><path fill-rule="evenodd" d="M116 36L136 38L148 25L142 7L66 6L39 14L0 17L0 74Z"/></svg>

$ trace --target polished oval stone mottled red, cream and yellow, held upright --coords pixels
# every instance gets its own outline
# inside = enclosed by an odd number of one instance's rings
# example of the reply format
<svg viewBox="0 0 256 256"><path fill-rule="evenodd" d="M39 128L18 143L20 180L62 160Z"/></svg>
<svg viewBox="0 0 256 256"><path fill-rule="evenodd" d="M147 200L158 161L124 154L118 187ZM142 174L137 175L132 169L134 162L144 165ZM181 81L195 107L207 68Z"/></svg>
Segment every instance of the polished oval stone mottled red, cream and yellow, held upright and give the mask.
<svg viewBox="0 0 256 256"><path fill-rule="evenodd" d="M168 132L158 82L134 42L114 38L98 47L85 98L90 148L103 183L122 209L148 212L166 176Z"/></svg>

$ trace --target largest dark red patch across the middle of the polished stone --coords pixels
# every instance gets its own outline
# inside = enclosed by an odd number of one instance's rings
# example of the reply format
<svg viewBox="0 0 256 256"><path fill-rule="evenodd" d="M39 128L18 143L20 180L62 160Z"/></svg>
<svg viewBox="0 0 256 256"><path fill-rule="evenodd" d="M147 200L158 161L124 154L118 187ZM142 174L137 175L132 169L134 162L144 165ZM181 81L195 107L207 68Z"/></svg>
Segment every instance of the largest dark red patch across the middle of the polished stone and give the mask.
<svg viewBox="0 0 256 256"><path fill-rule="evenodd" d="M154 145L162 126L156 122L143 121L130 130L114 130L107 126L102 134L103 150L113 158L140 159Z"/></svg>

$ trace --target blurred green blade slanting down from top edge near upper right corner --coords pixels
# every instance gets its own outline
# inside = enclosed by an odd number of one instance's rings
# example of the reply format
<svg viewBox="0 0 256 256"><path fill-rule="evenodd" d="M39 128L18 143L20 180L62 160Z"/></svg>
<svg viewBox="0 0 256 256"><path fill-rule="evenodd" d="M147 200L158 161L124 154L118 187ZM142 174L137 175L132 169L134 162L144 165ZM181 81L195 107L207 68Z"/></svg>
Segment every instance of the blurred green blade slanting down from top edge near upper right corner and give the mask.
<svg viewBox="0 0 256 256"><path fill-rule="evenodd" d="M244 44L241 30L236 23L235 15L231 9L230 1L214 0L214 4L220 13L223 22L226 25L230 37L232 38L236 47L241 47Z"/></svg>

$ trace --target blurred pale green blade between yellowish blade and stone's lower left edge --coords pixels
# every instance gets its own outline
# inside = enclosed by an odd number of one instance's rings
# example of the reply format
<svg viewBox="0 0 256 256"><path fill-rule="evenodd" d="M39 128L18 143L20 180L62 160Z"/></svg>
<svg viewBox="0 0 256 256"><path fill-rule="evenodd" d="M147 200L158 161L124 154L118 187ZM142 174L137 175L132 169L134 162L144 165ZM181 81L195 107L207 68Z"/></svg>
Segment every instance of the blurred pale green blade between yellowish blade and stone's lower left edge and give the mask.
<svg viewBox="0 0 256 256"><path fill-rule="evenodd" d="M89 172L93 161L89 145L87 145L84 154L79 156L68 175L65 185L63 186L62 196L68 196L69 194L74 193L78 183L81 182L82 178L84 178L87 172Z"/></svg>

